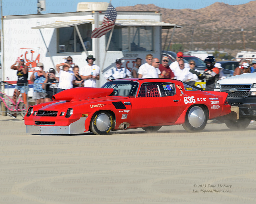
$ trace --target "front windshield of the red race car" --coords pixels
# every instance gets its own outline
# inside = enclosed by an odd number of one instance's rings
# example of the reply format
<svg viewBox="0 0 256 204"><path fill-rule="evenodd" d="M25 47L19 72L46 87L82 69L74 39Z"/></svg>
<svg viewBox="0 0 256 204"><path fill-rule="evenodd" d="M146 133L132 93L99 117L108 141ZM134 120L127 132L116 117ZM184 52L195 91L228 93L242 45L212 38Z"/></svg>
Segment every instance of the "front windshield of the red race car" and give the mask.
<svg viewBox="0 0 256 204"><path fill-rule="evenodd" d="M109 81L102 88L114 89L111 95L135 96L138 85L138 82L134 81Z"/></svg>

